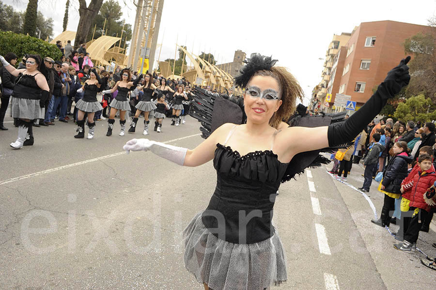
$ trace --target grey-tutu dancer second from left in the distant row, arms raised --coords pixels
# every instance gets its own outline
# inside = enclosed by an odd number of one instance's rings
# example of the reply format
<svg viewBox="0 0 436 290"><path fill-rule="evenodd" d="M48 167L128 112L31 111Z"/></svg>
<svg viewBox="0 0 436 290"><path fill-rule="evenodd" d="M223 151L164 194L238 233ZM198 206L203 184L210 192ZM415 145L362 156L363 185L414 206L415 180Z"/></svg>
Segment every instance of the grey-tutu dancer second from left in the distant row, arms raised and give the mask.
<svg viewBox="0 0 436 290"><path fill-rule="evenodd" d="M127 93L131 89L135 89L138 83L141 80L142 75L140 75L135 81L130 81L130 70L124 69L121 72L121 80L117 81L115 86L113 86L112 89L103 91L102 93L113 93L118 89L118 94L115 97L115 99L110 102L110 113L109 113L109 126L108 126L108 133L106 133L106 136L112 135L112 129L113 129L113 123L115 123L115 114L118 110L120 110L120 136L124 136L125 131L125 112L130 111L130 104L127 99Z"/></svg>

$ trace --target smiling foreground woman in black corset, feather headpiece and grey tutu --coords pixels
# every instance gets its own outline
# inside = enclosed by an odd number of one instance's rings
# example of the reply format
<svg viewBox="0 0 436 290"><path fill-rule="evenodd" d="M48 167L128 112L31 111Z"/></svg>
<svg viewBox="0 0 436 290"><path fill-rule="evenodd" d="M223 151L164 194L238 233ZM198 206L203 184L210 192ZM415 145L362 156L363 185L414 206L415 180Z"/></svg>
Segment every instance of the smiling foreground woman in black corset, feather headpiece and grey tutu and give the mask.
<svg viewBox="0 0 436 290"><path fill-rule="evenodd" d="M349 142L408 84L406 63L392 69L368 102L343 123L323 127L282 127L303 91L276 61L251 56L235 78L245 88L247 123L226 123L193 150L148 139L124 149L151 151L182 166L213 160L217 186L205 211L184 231L185 266L207 290L262 290L286 281L286 258L272 224L280 182L297 153Z"/></svg>

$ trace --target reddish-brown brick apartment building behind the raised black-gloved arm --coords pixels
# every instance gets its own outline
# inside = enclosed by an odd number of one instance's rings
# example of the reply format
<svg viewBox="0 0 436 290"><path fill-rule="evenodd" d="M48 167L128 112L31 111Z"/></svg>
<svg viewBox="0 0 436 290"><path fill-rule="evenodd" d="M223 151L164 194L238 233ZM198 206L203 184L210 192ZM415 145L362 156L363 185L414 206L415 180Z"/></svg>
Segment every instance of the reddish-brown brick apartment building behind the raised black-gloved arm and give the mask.
<svg viewBox="0 0 436 290"><path fill-rule="evenodd" d="M357 109L361 107L372 96L373 88L405 57L405 39L427 29L427 26L390 20L360 23L345 46L338 47L327 87L323 88L325 76L315 87L313 107L318 105L324 111L342 111L343 108L334 107L336 93L350 95L351 101L357 102ZM327 107L328 93L331 99Z"/></svg>

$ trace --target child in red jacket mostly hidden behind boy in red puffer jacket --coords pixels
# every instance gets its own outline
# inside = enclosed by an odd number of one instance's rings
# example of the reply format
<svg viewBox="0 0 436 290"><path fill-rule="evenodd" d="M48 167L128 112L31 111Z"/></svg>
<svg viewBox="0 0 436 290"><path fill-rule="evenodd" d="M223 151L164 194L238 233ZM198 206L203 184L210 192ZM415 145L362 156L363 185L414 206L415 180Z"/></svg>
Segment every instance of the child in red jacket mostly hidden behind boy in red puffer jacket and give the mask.
<svg viewBox="0 0 436 290"><path fill-rule="evenodd" d="M420 149L419 156L422 154L429 154L433 158L433 148L431 146L424 146ZM412 218L413 211L410 211L410 199L412 196L413 188L413 178L419 172L420 166L416 164L412 171L407 175L407 177L401 183L401 220L400 229L395 234L395 239L398 241L403 241L403 237L409 227L410 219Z"/></svg>

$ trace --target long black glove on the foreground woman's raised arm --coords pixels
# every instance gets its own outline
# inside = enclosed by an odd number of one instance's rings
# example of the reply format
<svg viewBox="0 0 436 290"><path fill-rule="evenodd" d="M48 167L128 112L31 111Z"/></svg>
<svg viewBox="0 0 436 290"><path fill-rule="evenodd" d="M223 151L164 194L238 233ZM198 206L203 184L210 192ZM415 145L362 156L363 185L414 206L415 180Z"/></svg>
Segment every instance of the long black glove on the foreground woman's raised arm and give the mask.
<svg viewBox="0 0 436 290"><path fill-rule="evenodd" d="M410 56L401 60L398 66L391 69L373 96L347 121L343 124L328 126L328 146L336 146L353 140L380 113L388 99L409 84L410 75L407 66L409 61Z"/></svg>

